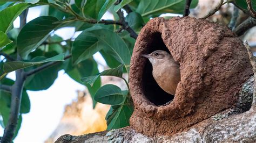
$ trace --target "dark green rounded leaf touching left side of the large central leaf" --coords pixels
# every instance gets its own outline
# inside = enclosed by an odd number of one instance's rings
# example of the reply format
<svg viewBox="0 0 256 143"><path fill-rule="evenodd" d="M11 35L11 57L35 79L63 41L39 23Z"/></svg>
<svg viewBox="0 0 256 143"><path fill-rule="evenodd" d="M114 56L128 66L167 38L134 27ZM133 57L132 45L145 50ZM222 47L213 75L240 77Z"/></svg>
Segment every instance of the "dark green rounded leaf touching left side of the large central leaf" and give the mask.
<svg viewBox="0 0 256 143"><path fill-rule="evenodd" d="M102 49L94 34L83 31L78 35L72 46L72 60L77 64L91 58L93 54Z"/></svg>

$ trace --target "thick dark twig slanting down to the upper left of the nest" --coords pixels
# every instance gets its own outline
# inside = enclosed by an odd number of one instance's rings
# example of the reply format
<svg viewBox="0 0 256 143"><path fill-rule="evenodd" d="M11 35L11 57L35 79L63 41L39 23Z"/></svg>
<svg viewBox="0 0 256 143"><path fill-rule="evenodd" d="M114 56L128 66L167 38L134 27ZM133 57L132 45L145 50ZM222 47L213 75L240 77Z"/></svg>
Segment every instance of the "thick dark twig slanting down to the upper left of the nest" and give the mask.
<svg viewBox="0 0 256 143"><path fill-rule="evenodd" d="M120 23L122 23L122 28L130 33L130 36L134 39L137 39L138 34L129 26L127 22L125 22L124 13L121 10L117 11L117 15L119 17Z"/></svg>

